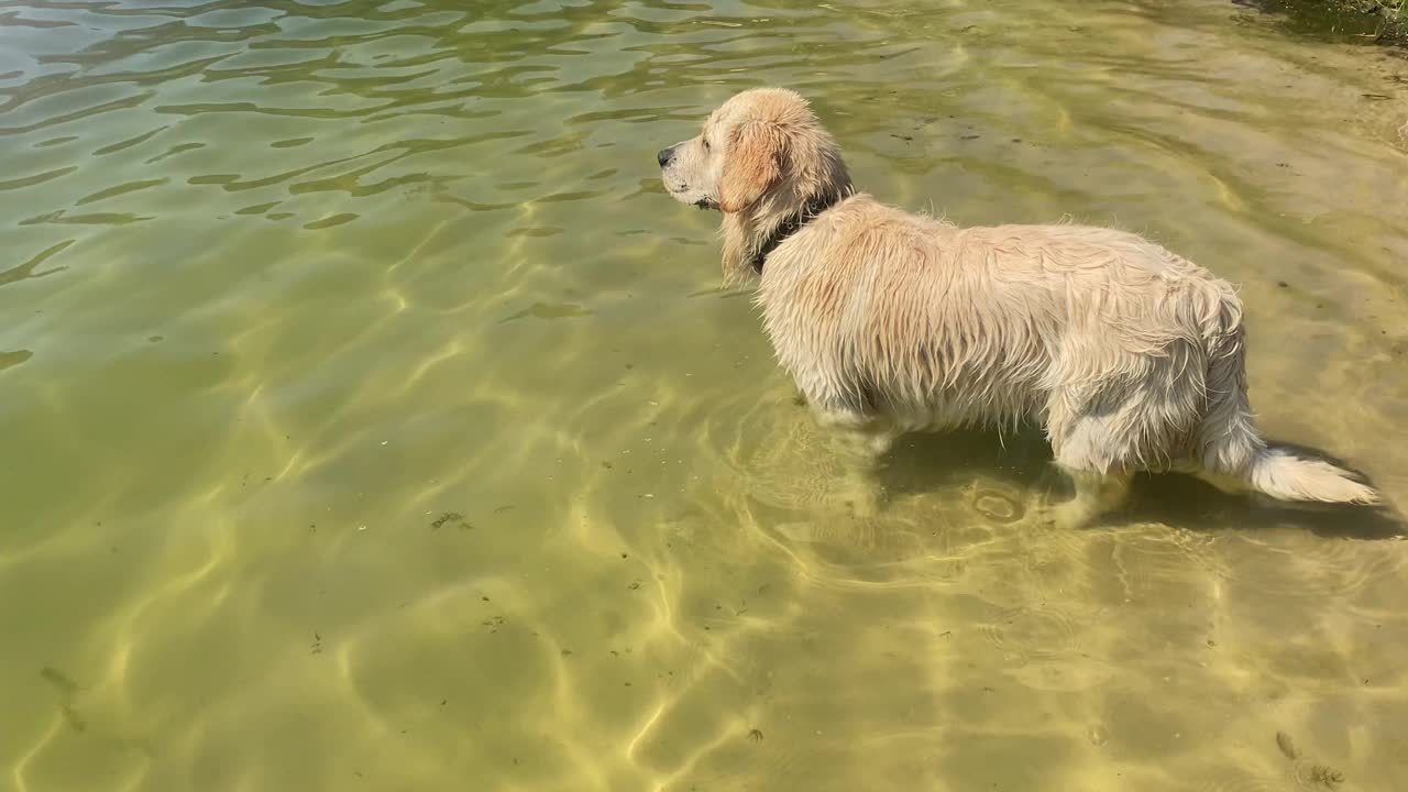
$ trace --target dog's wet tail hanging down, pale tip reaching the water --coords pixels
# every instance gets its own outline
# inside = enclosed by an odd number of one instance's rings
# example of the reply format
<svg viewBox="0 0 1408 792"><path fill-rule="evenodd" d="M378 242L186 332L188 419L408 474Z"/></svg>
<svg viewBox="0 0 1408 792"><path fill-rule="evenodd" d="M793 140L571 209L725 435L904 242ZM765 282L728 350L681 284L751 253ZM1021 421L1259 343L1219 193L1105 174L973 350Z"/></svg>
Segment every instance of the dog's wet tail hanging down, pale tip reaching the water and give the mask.
<svg viewBox="0 0 1408 792"><path fill-rule="evenodd" d="M1342 468L1267 445L1246 396L1246 331L1240 311L1221 316L1208 366L1208 409L1200 427L1202 466L1277 500L1378 503L1378 493Z"/></svg>

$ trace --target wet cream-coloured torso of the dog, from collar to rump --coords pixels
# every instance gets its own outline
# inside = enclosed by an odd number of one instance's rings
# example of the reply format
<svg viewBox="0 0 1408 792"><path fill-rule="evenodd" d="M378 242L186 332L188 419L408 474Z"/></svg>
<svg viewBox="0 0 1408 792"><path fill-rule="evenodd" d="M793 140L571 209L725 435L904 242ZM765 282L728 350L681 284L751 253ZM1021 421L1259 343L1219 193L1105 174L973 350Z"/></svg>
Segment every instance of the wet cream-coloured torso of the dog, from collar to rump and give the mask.
<svg viewBox="0 0 1408 792"><path fill-rule="evenodd" d="M849 199L780 247L759 302L810 399L904 428L1050 421L1150 397L1200 416L1231 286L1136 235L1081 225L957 228ZM1170 393L1164 393L1169 392Z"/></svg>

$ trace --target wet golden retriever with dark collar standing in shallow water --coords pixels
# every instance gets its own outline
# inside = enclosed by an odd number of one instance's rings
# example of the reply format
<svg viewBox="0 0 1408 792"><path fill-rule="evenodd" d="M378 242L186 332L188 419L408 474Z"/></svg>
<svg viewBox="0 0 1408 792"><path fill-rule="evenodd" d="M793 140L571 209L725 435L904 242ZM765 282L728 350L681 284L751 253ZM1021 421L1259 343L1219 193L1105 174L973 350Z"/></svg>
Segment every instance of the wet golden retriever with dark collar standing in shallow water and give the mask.
<svg viewBox="0 0 1408 792"><path fill-rule="evenodd" d="M1246 395L1242 304L1226 282L1110 228L952 223L856 192L807 100L762 87L659 152L676 200L724 214L724 276L758 279L763 326L824 426L872 471L897 435L1045 428L1077 526L1136 471L1183 471L1281 500L1376 503L1326 461L1269 445Z"/></svg>

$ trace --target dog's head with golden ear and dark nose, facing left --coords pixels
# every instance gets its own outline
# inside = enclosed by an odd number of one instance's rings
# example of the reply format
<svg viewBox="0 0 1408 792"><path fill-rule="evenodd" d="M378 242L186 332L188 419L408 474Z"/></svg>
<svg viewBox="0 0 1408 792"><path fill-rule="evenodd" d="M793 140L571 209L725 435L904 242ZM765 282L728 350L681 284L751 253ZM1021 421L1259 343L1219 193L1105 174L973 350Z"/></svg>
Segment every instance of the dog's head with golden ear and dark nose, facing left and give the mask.
<svg viewBox="0 0 1408 792"><path fill-rule="evenodd" d="M777 221L819 194L843 194L850 176L835 140L807 100L777 87L735 94L704 123L698 137L658 155L674 200L750 224Z"/></svg>

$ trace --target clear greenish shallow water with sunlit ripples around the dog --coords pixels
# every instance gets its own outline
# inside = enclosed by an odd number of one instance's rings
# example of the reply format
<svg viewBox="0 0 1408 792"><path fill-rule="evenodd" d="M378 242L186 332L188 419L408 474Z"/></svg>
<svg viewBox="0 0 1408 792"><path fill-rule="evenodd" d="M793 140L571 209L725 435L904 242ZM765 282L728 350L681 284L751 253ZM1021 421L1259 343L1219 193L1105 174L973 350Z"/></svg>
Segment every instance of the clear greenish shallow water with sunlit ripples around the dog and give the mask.
<svg viewBox="0 0 1408 792"><path fill-rule="evenodd" d="M1211 1L0 3L0 788L1401 785L1391 519L1052 531L955 434L857 527L653 154L780 83L883 200L1148 233L1402 505L1405 75Z"/></svg>

